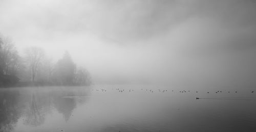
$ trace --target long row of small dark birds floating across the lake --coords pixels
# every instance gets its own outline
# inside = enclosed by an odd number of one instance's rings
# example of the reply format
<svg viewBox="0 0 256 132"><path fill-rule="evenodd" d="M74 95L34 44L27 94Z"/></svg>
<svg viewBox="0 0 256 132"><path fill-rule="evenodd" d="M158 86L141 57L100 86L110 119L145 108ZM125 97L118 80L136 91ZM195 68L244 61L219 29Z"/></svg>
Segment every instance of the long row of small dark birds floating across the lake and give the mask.
<svg viewBox="0 0 256 132"><path fill-rule="evenodd" d="M116 90L116 91L118 91L118 92L124 92L124 91L127 91L127 92L133 92L133 91L135 91L134 89L119 89L119 88L116 88L116 89L114 89L114 88L112 88L112 90ZM154 90L151 90L151 89L141 89L141 90L143 90L143 91L146 91L146 92L151 92L151 93L154 93ZM92 91L94 91L94 89L92 89ZM102 92L106 92L106 89L96 89L95 91L102 91ZM160 90L160 89L158 89L158 90L155 90L156 92L162 92L162 93L164 93L164 92L167 92L167 90ZM172 90L172 92L174 92L174 90ZM186 91L186 90L183 90L183 91L178 91L179 93L191 93L191 91L190 90L188 90L188 91ZM238 93L238 91L233 91L234 93ZM199 93L199 91L196 91L196 93ZM206 92L207 94L208 93L210 93L210 92ZM215 91L214 93L222 93L222 91ZM230 91L227 91L227 93L230 93ZM251 91L251 93L254 93L254 91Z"/></svg>

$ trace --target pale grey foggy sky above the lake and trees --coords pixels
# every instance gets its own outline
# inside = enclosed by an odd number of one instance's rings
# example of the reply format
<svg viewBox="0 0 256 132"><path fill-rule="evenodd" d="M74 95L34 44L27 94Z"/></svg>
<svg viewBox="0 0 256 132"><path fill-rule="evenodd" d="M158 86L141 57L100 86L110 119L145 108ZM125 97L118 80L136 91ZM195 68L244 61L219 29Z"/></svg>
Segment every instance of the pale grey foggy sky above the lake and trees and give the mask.
<svg viewBox="0 0 256 132"><path fill-rule="evenodd" d="M255 2L0 0L0 33L68 50L96 84L255 87Z"/></svg>

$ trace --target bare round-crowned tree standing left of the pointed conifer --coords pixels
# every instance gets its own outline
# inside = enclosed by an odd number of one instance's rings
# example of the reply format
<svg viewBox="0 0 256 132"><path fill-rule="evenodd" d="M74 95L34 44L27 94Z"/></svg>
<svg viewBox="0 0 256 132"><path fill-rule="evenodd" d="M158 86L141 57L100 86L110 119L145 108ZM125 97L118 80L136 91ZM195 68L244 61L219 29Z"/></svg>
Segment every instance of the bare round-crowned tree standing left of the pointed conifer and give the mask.
<svg viewBox="0 0 256 132"><path fill-rule="evenodd" d="M42 59L45 56L45 52L40 47L29 47L26 49L27 60L29 62L29 67L31 69L32 82L35 81L35 75L38 70Z"/></svg>

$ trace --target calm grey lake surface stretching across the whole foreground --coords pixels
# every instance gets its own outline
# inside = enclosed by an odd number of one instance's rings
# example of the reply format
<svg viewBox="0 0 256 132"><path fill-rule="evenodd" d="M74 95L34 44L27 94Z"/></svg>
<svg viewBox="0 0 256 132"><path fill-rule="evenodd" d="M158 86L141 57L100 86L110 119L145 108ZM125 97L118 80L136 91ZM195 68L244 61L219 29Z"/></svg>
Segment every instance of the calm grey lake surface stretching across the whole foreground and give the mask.
<svg viewBox="0 0 256 132"><path fill-rule="evenodd" d="M179 91L153 86L0 89L0 131L256 131L252 90Z"/></svg>

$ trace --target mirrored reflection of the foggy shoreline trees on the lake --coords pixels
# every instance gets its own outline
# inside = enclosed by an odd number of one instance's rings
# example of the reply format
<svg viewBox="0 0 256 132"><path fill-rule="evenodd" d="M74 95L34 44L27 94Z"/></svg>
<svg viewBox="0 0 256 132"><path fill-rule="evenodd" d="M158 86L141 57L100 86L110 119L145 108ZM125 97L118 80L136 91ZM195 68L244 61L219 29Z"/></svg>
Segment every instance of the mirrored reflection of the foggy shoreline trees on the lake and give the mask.
<svg viewBox="0 0 256 132"><path fill-rule="evenodd" d="M72 116L77 103L86 98L65 96L86 96L88 92L79 89L0 89L0 132L13 131L22 117L25 125L38 126L45 122L46 115L53 110L63 115L66 121Z"/></svg>

